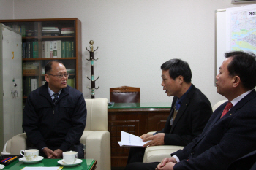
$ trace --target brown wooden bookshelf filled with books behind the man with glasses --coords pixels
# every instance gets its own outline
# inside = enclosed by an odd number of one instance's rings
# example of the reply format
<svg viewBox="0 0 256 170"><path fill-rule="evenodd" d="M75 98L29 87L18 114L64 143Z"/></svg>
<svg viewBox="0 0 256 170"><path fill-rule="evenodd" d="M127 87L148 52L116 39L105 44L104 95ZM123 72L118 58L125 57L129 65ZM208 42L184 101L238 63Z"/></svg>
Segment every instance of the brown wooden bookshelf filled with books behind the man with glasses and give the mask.
<svg viewBox="0 0 256 170"><path fill-rule="evenodd" d="M31 91L29 79L36 79L38 81L37 87L43 84L43 81L45 81L44 67L50 60L62 61L70 74L68 84L70 83L71 86L82 92L82 40L81 22L78 18L0 20L0 23L23 34L23 70L20 71L23 72L23 98L26 99ZM51 28L54 30L48 31ZM61 31L61 29L63 30ZM64 34L64 30L67 29L71 33ZM61 54L59 50L54 49L56 50L54 53L59 54L58 57L51 58L52 56L50 56L50 58L47 58L48 53L44 50L45 45L43 44L56 43L56 41L61 41L61 47L64 47L62 42L67 42L69 49L66 48L65 52L62 50ZM58 47L60 46L58 45ZM31 67L31 70L28 71L30 67L25 65L33 65L33 63L35 67ZM26 71L24 66L27 69Z"/></svg>

